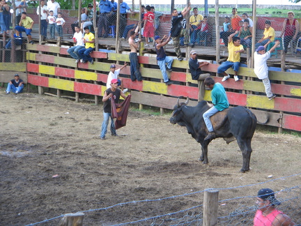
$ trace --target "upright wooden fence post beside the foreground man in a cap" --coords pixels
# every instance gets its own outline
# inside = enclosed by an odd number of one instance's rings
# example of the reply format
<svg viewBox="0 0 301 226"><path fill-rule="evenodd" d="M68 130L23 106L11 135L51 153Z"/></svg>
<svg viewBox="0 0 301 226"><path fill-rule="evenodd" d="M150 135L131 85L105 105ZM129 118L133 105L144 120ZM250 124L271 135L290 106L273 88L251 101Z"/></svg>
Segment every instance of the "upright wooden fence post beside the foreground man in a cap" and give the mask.
<svg viewBox="0 0 301 226"><path fill-rule="evenodd" d="M206 190L203 200L203 226L217 225L218 190Z"/></svg>

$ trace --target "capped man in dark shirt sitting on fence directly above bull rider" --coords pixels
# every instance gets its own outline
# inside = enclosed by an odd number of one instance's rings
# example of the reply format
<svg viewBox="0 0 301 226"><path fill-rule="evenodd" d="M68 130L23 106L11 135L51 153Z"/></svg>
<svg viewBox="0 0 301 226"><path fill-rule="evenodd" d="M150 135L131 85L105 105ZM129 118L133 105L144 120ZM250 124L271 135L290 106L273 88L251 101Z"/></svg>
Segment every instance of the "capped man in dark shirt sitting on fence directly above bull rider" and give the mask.
<svg viewBox="0 0 301 226"><path fill-rule="evenodd" d="M209 73L203 73L201 68L208 64L209 64L209 62L207 62L207 61L199 62L197 60L195 50L190 51L190 59L188 61L188 65L190 67L190 73L192 75L192 80L198 81L198 87L199 87L198 102L202 101L203 97L205 95L204 80L206 79L206 77L210 76Z"/></svg>

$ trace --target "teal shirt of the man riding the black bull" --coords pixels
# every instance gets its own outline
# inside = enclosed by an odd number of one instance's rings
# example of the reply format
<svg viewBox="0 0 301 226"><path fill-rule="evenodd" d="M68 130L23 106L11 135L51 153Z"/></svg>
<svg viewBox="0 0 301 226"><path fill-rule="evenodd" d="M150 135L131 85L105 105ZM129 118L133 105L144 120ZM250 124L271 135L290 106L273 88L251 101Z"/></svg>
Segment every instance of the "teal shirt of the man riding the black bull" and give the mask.
<svg viewBox="0 0 301 226"><path fill-rule="evenodd" d="M219 111L222 111L229 107L229 101L226 96L226 91L224 86L219 82L215 83L213 90L211 91L211 100L215 108Z"/></svg>

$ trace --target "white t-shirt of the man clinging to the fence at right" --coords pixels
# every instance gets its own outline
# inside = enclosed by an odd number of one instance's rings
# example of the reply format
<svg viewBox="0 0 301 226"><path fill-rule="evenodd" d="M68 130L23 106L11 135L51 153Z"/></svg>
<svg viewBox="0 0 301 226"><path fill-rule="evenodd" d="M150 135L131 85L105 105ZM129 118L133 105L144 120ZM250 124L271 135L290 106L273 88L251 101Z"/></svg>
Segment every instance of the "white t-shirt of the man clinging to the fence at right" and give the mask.
<svg viewBox="0 0 301 226"><path fill-rule="evenodd" d="M254 52L254 73L258 79L263 80L268 77L268 65L266 61L270 58L270 51L265 54Z"/></svg>

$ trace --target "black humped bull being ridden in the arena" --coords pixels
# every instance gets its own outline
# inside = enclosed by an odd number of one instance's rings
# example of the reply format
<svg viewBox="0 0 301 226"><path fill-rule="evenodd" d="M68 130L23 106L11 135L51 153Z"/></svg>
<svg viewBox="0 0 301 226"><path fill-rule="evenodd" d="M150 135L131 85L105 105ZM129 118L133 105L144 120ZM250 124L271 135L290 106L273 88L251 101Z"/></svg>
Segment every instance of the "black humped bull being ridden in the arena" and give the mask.
<svg viewBox="0 0 301 226"><path fill-rule="evenodd" d="M207 135L207 128L203 120L203 113L210 105L203 100L196 107L187 106L189 99L185 103L177 103L173 107L173 113L169 121L173 124L186 126L189 134L194 137L196 142L201 144L201 158L203 163L208 163L208 144L211 140L204 140ZM227 144L237 140L240 151L242 151L241 172L249 171L249 161L251 158L251 140L256 128L256 116L245 107L232 107L210 117L213 123L216 137L223 137Z"/></svg>

